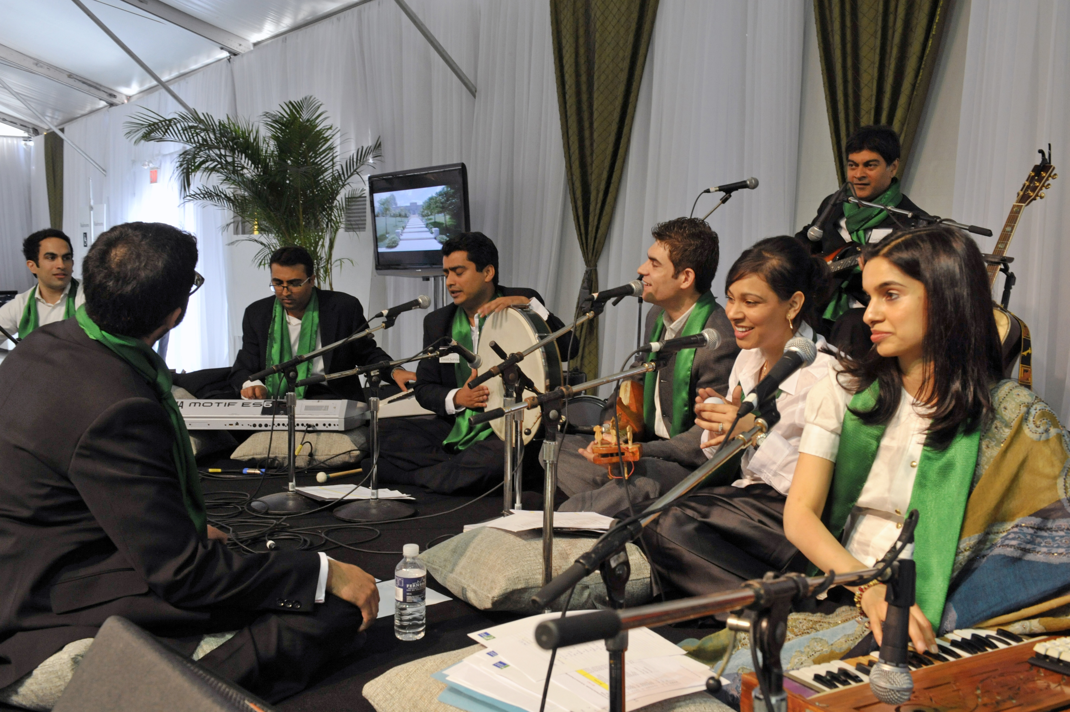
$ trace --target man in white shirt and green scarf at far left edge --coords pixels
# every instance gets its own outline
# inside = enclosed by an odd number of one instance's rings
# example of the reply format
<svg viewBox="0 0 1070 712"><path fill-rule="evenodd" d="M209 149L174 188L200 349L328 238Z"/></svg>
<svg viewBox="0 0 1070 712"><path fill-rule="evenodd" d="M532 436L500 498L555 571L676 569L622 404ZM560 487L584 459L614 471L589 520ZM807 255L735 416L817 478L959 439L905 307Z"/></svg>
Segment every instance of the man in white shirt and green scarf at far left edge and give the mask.
<svg viewBox="0 0 1070 712"><path fill-rule="evenodd" d="M86 302L72 276L71 239L62 230L37 230L22 241L22 255L36 284L0 306L0 327L12 335L17 332L20 340L37 327L72 318Z"/></svg>

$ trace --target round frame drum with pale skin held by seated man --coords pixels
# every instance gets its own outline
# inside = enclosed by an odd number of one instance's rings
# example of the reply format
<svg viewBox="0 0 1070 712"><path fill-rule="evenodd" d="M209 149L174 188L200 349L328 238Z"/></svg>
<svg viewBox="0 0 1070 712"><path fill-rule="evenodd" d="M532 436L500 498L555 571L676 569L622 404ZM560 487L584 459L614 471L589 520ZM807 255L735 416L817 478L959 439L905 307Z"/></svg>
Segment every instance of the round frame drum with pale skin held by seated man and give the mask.
<svg viewBox="0 0 1070 712"><path fill-rule="evenodd" d="M508 354L529 349L552 333L541 317L526 307L510 306L507 309L491 314L487 317L487 320L483 324L483 331L479 333L479 348L476 351L483 359L479 372L483 373L491 366L502 363L502 358L494 353L494 350L490 347L491 342L498 344ZM520 362L520 370L528 378L532 379L535 388L541 393L561 387L561 354L557 352L556 343L551 342L538 351L529 353ZM487 398L487 410L501 408L502 399L505 395L502 378L500 376L494 377L487 381L486 385L490 389L490 395ZM525 390L523 395L528 397L534 394ZM524 425L521 429L521 435L524 444L528 444L535 437L540 413L537 408L522 412ZM494 435L505 440L505 419L499 418L491 421L490 424L494 428ZM530 434L528 433L529 430L531 431Z"/></svg>

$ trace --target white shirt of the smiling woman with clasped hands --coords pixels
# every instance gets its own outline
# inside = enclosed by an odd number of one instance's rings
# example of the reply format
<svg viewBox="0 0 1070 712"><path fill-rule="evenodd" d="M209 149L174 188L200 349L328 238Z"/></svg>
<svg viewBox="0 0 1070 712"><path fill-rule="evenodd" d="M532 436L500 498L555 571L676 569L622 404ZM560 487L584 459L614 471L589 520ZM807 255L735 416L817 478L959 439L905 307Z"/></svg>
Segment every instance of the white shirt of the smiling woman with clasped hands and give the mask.
<svg viewBox="0 0 1070 712"><path fill-rule="evenodd" d="M806 324L799 330L800 336L811 338L813 331ZM817 357L813 363L805 368L799 368L789 376L780 384L780 397L777 398L777 410L780 412L780 421L773 426L765 436L762 445L756 450L748 448L744 451L740 464L739 480L732 483L735 487L746 487L755 482L764 482L781 495L788 495L788 489L792 486L792 478L795 476L795 463L799 457L799 439L802 437L802 428L806 425L806 404L807 395L813 387L827 378L829 367L836 363L836 357L825 353L822 349L827 349L828 344L823 336L817 336ZM765 359L759 349L745 349L736 357L732 373L729 374L729 393L731 396L735 387L743 387L743 394L746 396L758 385L759 373ZM709 403L712 398L707 398ZM704 430L702 443L713 439L715 434ZM717 445L719 446L719 445ZM706 457L713 457L717 446L703 446L702 452Z"/></svg>

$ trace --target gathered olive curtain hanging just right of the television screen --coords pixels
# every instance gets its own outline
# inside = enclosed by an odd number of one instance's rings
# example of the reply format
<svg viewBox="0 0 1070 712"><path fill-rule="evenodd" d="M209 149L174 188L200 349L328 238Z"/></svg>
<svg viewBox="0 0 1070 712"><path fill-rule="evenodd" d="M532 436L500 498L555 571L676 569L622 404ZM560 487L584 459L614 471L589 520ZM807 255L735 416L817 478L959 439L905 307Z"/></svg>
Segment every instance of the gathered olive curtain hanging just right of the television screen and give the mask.
<svg viewBox="0 0 1070 712"><path fill-rule="evenodd" d="M550 0L565 172L586 271L598 291L658 0ZM580 327L580 367L598 375L598 323Z"/></svg>

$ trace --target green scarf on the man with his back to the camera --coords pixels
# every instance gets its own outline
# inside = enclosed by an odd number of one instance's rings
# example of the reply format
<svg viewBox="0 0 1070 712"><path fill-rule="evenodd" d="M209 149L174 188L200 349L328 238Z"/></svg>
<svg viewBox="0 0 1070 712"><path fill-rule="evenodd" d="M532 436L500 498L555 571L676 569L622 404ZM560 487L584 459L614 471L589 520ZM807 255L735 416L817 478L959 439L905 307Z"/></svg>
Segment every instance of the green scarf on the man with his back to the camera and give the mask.
<svg viewBox="0 0 1070 712"><path fill-rule="evenodd" d="M204 511L204 495L201 493L200 474L197 472L197 460L194 458L194 449L189 442L186 423L182 420L179 404L171 395L171 372L167 369L167 364L140 338L117 336L102 331L86 314L85 306L80 306L75 312L75 318L78 320L78 325L90 338L104 344L116 355L133 366L134 370L144 377L149 385L156 392L156 396L159 397L159 405L167 411L167 416L171 420L171 429L174 430L171 456L174 458L174 471L179 475L182 502L197 528L197 533L200 534L201 539L204 539L208 532L208 514Z"/></svg>

